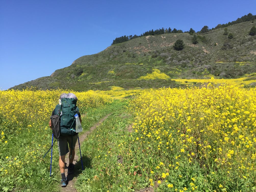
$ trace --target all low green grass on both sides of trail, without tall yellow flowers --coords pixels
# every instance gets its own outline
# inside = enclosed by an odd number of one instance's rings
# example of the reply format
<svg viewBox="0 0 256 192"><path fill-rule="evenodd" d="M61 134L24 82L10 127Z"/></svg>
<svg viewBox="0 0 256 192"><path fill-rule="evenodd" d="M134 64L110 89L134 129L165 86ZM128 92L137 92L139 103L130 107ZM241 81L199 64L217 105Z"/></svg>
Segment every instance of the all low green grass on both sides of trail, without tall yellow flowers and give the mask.
<svg viewBox="0 0 256 192"><path fill-rule="evenodd" d="M238 179L232 173L232 177L229 177L235 179L229 180L221 169L206 169L200 163L189 163L185 157L175 157L173 153L159 153L158 142L144 143L140 139L144 135L136 131L129 132L135 122L134 109L128 108L131 107L129 102L132 100L114 100L113 103L99 108L80 109L83 133L107 114L111 115L81 144L84 170L76 172L77 191L137 191L150 184L154 185L157 181L162 184L155 187L155 191L174 191L174 188L168 188L168 184L171 186L175 183L175 187L184 189L195 178L198 191L218 188L220 182L227 182L228 188L234 189L233 191L255 190L251 186L255 181L246 183L245 179ZM42 158L51 146L48 122L37 125L35 121L31 126L21 127L15 134L4 136L8 142L2 142L0 147L0 153L3 154L0 158L2 191L60 191L57 145L53 148L51 177L50 154ZM174 133L173 137L175 138ZM169 167L168 164L179 166L179 169ZM81 161L76 167L80 169ZM163 173L169 174L168 179L165 179ZM248 186L251 188L247 189Z"/></svg>

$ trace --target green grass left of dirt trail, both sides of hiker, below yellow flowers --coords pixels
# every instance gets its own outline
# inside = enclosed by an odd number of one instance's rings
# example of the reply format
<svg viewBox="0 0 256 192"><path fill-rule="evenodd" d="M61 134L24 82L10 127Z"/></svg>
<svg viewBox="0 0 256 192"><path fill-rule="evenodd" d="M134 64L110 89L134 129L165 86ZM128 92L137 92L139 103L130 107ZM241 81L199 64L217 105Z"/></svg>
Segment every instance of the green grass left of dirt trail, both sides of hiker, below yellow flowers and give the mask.
<svg viewBox="0 0 256 192"><path fill-rule="evenodd" d="M81 109L83 132L106 114L115 111L117 105L119 105L118 102L114 101L112 104L97 109ZM5 134L1 135L1 139L8 142L1 142L0 147L0 190L59 191L61 177L57 142L53 147L51 177L51 151L43 158L52 141L52 132L48 122L39 125L35 120L34 123L31 122L31 126L20 127L20 130L13 134L7 133L9 132L5 131Z"/></svg>

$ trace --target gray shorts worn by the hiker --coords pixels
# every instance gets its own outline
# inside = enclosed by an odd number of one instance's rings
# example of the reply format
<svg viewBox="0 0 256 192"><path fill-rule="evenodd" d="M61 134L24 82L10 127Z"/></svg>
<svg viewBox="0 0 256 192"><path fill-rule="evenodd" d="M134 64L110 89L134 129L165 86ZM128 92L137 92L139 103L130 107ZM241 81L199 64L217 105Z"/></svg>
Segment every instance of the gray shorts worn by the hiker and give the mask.
<svg viewBox="0 0 256 192"><path fill-rule="evenodd" d="M69 152L69 148L71 148L71 146L72 146L72 150L74 150L76 146L77 138L78 138L78 134L73 136L60 135L60 137L57 140L59 156L66 155Z"/></svg>

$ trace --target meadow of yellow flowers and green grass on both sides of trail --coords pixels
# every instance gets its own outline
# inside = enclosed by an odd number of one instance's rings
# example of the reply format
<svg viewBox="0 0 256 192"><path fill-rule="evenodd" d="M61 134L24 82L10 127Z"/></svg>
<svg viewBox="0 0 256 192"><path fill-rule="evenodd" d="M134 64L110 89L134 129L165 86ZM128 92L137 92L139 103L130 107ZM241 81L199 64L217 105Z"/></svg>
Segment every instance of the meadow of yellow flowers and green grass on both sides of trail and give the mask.
<svg viewBox="0 0 256 192"><path fill-rule="evenodd" d="M81 146L86 161L77 191L256 191L255 88L118 90L74 92L83 127L104 106L112 113ZM63 92L69 90L0 91L2 191L59 190L58 164L49 177L50 155L42 156ZM134 93L128 104L125 95Z"/></svg>

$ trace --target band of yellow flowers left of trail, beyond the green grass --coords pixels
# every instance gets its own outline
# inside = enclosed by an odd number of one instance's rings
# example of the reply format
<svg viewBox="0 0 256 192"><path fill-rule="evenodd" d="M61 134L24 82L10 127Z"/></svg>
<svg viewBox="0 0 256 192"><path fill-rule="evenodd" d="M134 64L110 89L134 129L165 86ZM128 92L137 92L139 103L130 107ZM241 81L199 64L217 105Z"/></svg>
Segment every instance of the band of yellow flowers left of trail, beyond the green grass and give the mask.
<svg viewBox="0 0 256 192"><path fill-rule="evenodd" d="M49 121L52 110L58 104L61 93L73 92L78 97L78 107L96 107L112 102L110 96L94 91L74 92L70 90L33 90L25 89L0 91L0 117L2 130L19 131L21 127L33 126ZM2 132L1 141L4 139Z"/></svg>

